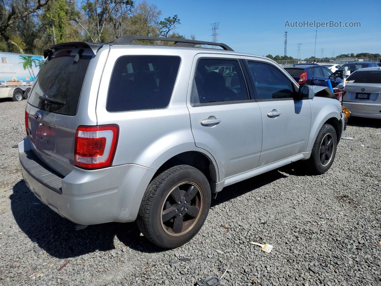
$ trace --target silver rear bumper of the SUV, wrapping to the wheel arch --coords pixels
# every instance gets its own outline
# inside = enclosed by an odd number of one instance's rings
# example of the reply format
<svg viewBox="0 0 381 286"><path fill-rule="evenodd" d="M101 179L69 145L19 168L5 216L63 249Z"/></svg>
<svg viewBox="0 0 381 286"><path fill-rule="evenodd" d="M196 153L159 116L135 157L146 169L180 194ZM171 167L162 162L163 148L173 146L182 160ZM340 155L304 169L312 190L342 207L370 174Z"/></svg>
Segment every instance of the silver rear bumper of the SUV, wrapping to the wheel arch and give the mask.
<svg viewBox="0 0 381 286"><path fill-rule="evenodd" d="M69 175L60 177L37 158L25 156L30 151L29 138L18 147L22 176L29 189L56 213L82 225L134 221L156 172L125 164L98 170L74 167Z"/></svg>

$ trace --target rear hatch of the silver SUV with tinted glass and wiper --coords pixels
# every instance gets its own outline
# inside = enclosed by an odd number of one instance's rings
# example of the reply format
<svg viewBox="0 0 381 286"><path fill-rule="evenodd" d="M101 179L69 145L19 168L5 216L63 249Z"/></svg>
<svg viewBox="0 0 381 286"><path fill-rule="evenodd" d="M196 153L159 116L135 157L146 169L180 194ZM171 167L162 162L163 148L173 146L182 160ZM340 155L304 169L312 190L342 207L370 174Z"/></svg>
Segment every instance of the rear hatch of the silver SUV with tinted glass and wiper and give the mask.
<svg viewBox="0 0 381 286"><path fill-rule="evenodd" d="M26 120L33 152L64 176L74 168L77 127L89 122L88 112L80 112L78 104L81 96L88 96L81 92L93 57L90 48L62 45L53 49L28 98Z"/></svg>

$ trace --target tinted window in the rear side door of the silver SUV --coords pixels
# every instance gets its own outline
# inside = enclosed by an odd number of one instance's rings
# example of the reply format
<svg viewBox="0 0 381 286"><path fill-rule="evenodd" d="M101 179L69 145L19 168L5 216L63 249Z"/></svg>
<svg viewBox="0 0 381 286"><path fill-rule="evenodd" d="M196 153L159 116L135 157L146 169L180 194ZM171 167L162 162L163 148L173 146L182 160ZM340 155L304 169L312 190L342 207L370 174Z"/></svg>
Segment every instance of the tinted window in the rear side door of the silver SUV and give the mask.
<svg viewBox="0 0 381 286"><path fill-rule="evenodd" d="M240 64L229 59L200 59L193 81L191 103L248 100Z"/></svg>

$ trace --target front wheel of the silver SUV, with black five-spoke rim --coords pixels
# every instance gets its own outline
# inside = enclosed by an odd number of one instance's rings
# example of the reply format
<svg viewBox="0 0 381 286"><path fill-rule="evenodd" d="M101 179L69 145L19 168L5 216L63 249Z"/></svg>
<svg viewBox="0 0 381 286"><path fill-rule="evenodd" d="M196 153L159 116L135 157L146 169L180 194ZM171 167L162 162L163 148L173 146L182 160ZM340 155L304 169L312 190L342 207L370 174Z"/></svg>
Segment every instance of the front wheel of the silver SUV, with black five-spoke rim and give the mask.
<svg viewBox="0 0 381 286"><path fill-rule="evenodd" d="M332 145L329 143L330 140L332 140ZM333 160L335 159L336 148L336 130L332 125L324 124L317 134L314 147L312 148L311 157L305 164L311 174L321 175L330 169Z"/></svg>

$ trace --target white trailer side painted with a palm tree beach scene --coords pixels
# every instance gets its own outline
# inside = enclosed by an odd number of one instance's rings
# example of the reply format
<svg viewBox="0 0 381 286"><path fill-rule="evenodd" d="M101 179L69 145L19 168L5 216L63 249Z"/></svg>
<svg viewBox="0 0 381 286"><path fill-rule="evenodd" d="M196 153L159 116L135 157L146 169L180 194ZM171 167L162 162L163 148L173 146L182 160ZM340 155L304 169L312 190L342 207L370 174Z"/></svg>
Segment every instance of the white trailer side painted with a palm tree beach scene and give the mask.
<svg viewBox="0 0 381 286"><path fill-rule="evenodd" d="M43 64L42 56L0 53L0 84L22 85L33 82Z"/></svg>

